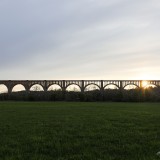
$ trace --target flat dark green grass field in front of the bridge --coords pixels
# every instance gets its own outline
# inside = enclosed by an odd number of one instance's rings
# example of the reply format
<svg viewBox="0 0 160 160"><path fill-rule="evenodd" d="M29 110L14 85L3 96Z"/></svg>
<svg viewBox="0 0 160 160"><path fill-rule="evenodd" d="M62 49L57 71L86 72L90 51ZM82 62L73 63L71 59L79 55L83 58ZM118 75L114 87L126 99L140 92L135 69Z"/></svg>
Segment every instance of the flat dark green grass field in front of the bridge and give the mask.
<svg viewBox="0 0 160 160"><path fill-rule="evenodd" d="M159 160L160 103L0 102L0 160Z"/></svg>

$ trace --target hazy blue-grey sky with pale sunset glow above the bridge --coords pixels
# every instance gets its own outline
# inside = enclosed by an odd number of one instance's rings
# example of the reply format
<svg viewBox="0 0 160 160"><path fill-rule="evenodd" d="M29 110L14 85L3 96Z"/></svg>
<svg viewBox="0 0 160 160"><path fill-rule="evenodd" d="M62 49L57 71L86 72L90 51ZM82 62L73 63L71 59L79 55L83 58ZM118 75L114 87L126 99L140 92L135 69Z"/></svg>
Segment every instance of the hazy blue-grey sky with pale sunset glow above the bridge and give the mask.
<svg viewBox="0 0 160 160"><path fill-rule="evenodd" d="M160 79L160 0L0 0L0 79Z"/></svg>

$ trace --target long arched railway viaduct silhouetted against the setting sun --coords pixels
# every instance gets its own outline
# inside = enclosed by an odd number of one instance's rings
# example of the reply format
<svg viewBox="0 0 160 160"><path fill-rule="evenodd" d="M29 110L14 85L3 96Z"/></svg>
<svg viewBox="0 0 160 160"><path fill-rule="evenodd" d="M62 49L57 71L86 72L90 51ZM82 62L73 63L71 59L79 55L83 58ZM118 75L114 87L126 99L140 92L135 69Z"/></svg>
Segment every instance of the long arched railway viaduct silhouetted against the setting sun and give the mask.
<svg viewBox="0 0 160 160"><path fill-rule="evenodd" d="M16 85L24 86L26 92L29 92L34 85L42 86L44 92L47 92L48 88L52 85L58 85L63 92L71 85L77 85L81 92L84 92L88 86L95 85L103 92L109 85L114 85L120 90L125 89L129 85L143 88L143 82L144 80L0 80L0 85L5 85L10 94ZM145 80L145 82L147 85L160 87L160 80Z"/></svg>

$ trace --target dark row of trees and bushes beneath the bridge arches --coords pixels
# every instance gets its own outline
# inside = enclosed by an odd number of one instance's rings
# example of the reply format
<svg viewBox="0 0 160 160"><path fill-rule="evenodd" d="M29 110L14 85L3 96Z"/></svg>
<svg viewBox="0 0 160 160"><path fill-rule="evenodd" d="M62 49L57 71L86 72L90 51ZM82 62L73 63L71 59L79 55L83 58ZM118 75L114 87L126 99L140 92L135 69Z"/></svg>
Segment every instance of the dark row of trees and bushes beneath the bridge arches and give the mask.
<svg viewBox="0 0 160 160"><path fill-rule="evenodd" d="M106 89L86 91L20 91L0 94L0 101L108 101L108 102L160 102L160 87L136 88L129 90Z"/></svg>

